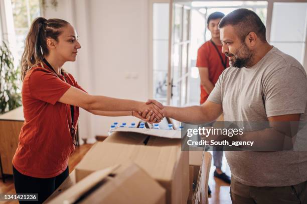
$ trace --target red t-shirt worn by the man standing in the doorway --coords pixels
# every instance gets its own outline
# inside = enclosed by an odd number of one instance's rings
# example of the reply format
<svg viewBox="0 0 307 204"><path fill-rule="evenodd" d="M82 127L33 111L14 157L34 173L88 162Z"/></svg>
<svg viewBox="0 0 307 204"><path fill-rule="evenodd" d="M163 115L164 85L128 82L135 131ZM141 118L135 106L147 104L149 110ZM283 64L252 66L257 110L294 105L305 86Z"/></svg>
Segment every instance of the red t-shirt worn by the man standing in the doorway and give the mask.
<svg viewBox="0 0 307 204"><path fill-rule="evenodd" d="M218 50L223 58L223 62L225 62L225 54L222 52L222 45L217 45ZM206 41L197 52L197 67L207 67L209 71L209 80L215 85L219 76L224 71L224 65L221 62L221 58L215 49L212 42ZM226 67L229 66L229 59L226 57ZM201 99L200 103L203 104L209 94L206 92L205 88L201 85Z"/></svg>

